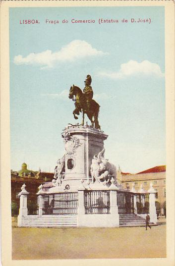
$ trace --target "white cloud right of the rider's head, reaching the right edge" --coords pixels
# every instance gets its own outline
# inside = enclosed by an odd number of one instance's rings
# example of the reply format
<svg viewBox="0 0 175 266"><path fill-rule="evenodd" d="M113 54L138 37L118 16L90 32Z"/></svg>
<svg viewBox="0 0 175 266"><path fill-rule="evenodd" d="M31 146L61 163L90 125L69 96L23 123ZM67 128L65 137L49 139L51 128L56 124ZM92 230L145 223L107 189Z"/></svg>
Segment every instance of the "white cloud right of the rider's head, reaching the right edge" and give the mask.
<svg viewBox="0 0 175 266"><path fill-rule="evenodd" d="M117 72L100 72L99 75L107 76L112 79L122 79L133 75L155 75L157 77L163 77L161 68L158 64L152 63L148 60L144 60L141 63L130 60L127 63L121 64L120 69Z"/></svg>

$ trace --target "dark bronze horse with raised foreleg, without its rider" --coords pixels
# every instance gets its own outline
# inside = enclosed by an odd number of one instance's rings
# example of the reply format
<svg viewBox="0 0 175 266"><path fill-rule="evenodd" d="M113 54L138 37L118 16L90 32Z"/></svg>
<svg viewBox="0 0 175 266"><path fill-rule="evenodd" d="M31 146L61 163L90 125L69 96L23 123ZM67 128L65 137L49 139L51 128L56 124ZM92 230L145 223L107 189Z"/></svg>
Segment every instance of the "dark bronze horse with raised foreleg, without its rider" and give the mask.
<svg viewBox="0 0 175 266"><path fill-rule="evenodd" d="M74 100L74 96L75 96L75 100ZM90 110L88 110L87 107L87 103L84 99L84 95L82 90L77 87L77 86L72 86L70 87L69 90L69 99L72 99L73 101L75 101L75 109L73 110L73 116L75 119L78 119L78 117L75 115L79 115L80 112L83 112L83 120L81 125L84 125L84 114L86 113L88 118L91 121L91 125L94 127L95 124L95 128L99 128L100 129L100 125L99 125L99 121L98 121L98 114L99 114L99 109L100 106L98 103L96 103L94 100L91 100L90 102Z"/></svg>

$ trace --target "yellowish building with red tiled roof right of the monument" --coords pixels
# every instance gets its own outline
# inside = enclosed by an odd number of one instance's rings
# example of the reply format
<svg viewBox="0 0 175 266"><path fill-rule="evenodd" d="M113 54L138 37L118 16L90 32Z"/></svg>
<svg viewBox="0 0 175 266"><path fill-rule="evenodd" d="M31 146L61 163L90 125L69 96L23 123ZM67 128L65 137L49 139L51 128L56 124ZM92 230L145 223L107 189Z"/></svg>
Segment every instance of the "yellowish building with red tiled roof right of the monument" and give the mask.
<svg viewBox="0 0 175 266"><path fill-rule="evenodd" d="M117 180L123 188L128 190L131 190L134 186L135 190L139 191L141 185L143 185L146 192L150 188L150 183L152 183L156 191L156 210L160 215L166 215L166 165L155 166L136 174L123 173L119 167Z"/></svg>

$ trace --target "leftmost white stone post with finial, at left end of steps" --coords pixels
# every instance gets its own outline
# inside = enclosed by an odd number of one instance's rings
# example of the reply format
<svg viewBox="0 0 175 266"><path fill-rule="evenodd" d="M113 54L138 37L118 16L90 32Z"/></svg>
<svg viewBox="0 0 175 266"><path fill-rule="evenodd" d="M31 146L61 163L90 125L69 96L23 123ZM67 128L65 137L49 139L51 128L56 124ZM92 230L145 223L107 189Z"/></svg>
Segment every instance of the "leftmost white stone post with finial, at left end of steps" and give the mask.
<svg viewBox="0 0 175 266"><path fill-rule="evenodd" d="M25 189L26 185L23 184L21 187L21 192L18 194L20 196L20 206L19 206L19 215L18 215L18 226L23 226L23 216L28 215L27 210L27 196L29 192Z"/></svg>

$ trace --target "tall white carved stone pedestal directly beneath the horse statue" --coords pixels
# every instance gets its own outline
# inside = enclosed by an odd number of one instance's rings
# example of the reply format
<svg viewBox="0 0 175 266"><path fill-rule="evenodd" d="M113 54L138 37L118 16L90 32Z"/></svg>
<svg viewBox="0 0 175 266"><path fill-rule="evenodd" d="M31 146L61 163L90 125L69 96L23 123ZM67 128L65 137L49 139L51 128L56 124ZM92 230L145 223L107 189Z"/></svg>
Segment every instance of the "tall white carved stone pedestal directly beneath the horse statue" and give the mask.
<svg viewBox="0 0 175 266"><path fill-rule="evenodd" d="M91 126L68 126L62 132L65 148L65 177L61 187L77 189L80 180L91 182L90 167L95 154L104 148L108 135ZM60 189L59 189L60 190Z"/></svg>

